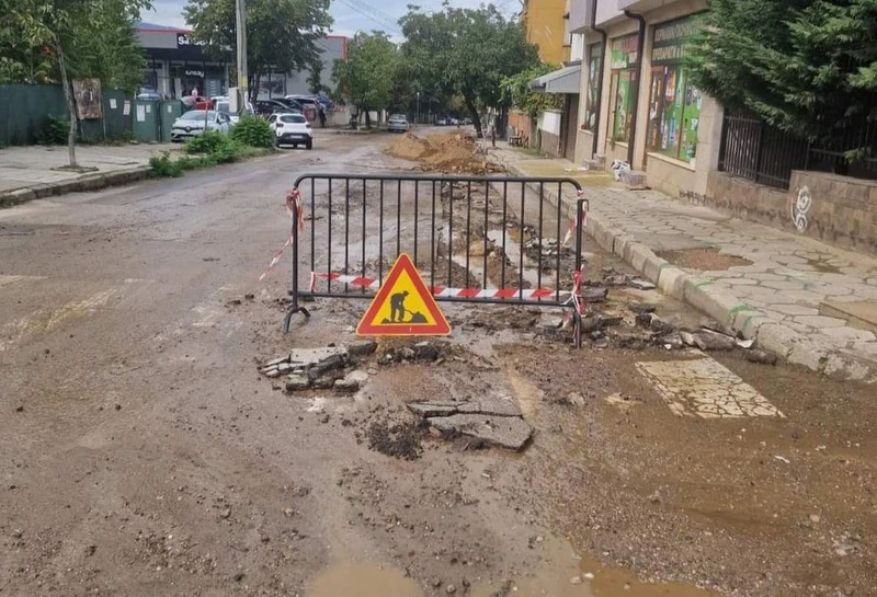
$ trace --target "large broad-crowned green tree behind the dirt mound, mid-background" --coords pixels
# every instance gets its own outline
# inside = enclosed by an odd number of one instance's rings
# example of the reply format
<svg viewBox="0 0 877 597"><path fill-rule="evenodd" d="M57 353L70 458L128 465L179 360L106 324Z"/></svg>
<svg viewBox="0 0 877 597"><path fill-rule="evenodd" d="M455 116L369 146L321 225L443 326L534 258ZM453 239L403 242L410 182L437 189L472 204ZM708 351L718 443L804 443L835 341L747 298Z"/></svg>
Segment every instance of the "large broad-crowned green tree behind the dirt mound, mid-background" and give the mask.
<svg viewBox="0 0 877 597"><path fill-rule="evenodd" d="M493 4L455 9L445 3L433 13L409 7L400 23L403 56L417 68L421 87L463 96L479 137L478 106L502 107L502 80L539 61L523 25L506 20Z"/></svg>

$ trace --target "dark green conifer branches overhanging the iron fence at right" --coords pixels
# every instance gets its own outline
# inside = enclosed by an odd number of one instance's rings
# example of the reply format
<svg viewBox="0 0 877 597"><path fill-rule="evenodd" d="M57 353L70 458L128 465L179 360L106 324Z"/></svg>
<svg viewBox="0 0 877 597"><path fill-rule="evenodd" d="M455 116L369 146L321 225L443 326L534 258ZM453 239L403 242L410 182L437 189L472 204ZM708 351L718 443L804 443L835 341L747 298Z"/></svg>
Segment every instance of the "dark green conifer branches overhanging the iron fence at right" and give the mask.
<svg viewBox="0 0 877 597"><path fill-rule="evenodd" d="M811 140L877 118L877 0L710 0L695 84Z"/></svg>

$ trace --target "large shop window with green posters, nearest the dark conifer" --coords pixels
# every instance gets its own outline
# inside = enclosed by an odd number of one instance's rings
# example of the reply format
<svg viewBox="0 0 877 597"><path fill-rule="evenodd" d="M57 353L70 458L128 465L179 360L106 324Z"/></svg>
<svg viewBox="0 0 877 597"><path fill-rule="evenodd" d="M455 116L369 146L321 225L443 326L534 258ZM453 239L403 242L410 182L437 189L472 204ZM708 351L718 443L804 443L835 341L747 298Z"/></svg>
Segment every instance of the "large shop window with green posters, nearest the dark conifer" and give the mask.
<svg viewBox="0 0 877 597"><path fill-rule="evenodd" d="M694 162L703 93L688 81L685 44L697 31L693 18L654 27L649 84L649 151Z"/></svg>

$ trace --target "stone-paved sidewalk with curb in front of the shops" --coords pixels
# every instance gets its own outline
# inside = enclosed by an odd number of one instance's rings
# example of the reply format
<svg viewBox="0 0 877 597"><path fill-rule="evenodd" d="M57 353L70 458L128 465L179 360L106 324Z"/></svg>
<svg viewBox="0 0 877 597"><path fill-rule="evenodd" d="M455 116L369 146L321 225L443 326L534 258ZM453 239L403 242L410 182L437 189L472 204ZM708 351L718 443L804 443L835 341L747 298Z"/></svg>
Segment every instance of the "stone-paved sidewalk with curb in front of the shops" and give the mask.
<svg viewBox="0 0 877 597"><path fill-rule="evenodd" d="M516 175L578 180L590 199L589 236L664 292L789 363L877 381L877 257L627 191L607 172L581 172L567 160L508 146L491 153ZM562 200L571 216L576 197Z"/></svg>

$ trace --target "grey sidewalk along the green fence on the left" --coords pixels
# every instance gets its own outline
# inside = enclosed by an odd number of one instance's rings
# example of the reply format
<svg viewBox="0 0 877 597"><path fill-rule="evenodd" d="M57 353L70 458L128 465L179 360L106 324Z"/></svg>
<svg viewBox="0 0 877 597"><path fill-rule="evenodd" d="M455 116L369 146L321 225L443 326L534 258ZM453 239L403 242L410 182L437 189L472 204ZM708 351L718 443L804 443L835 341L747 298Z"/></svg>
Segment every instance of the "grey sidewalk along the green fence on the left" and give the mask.
<svg viewBox="0 0 877 597"><path fill-rule="evenodd" d="M0 149L0 207L145 179L149 173L149 158L174 147L179 146L78 146L79 165L98 169L82 174L55 170L67 165L66 147Z"/></svg>

